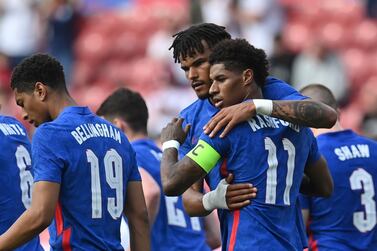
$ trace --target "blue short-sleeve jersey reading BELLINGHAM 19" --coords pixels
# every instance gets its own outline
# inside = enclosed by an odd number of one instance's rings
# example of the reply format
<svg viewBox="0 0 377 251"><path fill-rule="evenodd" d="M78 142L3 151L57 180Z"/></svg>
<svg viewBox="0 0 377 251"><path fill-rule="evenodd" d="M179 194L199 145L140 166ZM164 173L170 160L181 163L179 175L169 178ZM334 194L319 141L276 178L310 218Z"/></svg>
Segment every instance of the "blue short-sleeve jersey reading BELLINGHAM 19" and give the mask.
<svg viewBox="0 0 377 251"><path fill-rule="evenodd" d="M32 156L34 182L60 184L52 250L123 250L127 183L141 180L126 136L87 107L66 107L37 128Z"/></svg>

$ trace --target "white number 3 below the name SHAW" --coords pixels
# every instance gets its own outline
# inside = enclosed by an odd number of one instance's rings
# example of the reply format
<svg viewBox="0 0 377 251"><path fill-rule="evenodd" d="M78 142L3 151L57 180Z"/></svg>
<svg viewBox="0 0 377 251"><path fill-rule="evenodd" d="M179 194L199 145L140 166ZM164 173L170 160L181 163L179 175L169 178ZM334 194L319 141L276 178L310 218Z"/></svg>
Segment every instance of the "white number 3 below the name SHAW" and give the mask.
<svg viewBox="0 0 377 251"><path fill-rule="evenodd" d="M355 212L353 214L353 225L362 233L372 230L377 223L376 219L376 202L374 197L373 178L367 171L358 168L350 176L352 190L364 188L361 194L361 204L365 207L365 212Z"/></svg>

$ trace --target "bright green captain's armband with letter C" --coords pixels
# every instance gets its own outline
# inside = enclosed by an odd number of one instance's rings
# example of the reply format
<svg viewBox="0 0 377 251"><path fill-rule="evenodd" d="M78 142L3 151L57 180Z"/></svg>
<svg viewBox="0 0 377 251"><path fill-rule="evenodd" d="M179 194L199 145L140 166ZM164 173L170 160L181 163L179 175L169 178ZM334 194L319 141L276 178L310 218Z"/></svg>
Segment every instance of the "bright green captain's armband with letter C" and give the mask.
<svg viewBox="0 0 377 251"><path fill-rule="evenodd" d="M195 148L186 156L195 161L206 173L209 173L221 158L220 154L204 140L199 140Z"/></svg>

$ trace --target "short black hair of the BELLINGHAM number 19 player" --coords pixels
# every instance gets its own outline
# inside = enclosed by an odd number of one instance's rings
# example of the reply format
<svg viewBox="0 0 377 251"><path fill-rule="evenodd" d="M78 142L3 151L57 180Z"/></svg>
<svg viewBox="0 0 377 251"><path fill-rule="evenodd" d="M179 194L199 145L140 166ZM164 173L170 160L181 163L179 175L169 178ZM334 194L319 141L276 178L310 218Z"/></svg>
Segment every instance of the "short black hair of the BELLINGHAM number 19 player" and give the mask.
<svg viewBox="0 0 377 251"><path fill-rule="evenodd" d="M47 54L34 54L21 61L13 70L11 88L19 92L31 92L36 82L54 90L66 91L63 66Z"/></svg>

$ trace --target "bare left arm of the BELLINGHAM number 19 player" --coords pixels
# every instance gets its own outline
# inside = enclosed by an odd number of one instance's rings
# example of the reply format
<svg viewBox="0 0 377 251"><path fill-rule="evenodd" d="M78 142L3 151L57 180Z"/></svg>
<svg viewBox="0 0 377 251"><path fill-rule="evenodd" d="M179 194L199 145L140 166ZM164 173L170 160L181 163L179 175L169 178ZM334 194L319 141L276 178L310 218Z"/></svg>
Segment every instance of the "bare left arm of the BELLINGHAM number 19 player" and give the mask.
<svg viewBox="0 0 377 251"><path fill-rule="evenodd" d="M59 191L59 183L35 182L30 208L0 236L0 250L13 250L30 241L47 228L55 214Z"/></svg>

